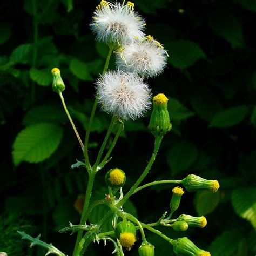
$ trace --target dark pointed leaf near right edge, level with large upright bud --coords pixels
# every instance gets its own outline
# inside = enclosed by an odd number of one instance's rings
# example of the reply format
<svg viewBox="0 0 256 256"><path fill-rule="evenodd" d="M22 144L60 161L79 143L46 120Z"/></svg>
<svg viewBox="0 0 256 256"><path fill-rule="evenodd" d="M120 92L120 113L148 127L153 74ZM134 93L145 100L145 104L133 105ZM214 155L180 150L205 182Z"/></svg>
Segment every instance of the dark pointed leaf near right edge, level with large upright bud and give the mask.
<svg viewBox="0 0 256 256"><path fill-rule="evenodd" d="M240 123L249 112L248 106L230 107L224 111L215 114L212 118L210 127L227 128Z"/></svg>

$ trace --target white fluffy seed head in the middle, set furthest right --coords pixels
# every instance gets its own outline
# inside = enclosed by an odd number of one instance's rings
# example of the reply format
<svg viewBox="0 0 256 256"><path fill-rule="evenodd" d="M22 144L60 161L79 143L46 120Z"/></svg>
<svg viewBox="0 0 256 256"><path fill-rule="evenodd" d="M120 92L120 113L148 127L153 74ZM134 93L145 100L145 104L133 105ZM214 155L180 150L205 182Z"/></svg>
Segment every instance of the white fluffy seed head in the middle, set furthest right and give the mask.
<svg viewBox="0 0 256 256"><path fill-rule="evenodd" d="M157 41L144 39L123 45L117 53L116 64L119 69L136 73L142 77L154 77L163 72L167 52Z"/></svg>

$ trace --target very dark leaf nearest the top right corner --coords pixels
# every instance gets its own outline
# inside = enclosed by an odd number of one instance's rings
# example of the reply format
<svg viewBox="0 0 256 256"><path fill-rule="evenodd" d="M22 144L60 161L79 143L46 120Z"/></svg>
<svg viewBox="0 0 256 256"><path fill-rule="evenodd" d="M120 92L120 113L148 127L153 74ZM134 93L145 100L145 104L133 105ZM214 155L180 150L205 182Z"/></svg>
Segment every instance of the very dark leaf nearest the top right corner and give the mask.
<svg viewBox="0 0 256 256"><path fill-rule="evenodd" d="M230 10L214 12L210 16L209 24L213 32L223 37L233 48L244 45L242 26Z"/></svg>

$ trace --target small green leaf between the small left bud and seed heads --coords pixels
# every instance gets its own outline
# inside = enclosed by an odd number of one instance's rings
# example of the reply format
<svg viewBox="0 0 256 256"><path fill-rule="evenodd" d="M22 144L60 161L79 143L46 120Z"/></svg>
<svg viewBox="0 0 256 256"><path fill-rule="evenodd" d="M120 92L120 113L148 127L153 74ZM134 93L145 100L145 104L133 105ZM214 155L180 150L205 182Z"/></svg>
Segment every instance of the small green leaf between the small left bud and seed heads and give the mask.
<svg viewBox="0 0 256 256"><path fill-rule="evenodd" d="M73 58L70 62L69 69L73 75L75 75L80 80L93 81L93 78L89 73L89 68L85 62L82 62L77 58Z"/></svg>

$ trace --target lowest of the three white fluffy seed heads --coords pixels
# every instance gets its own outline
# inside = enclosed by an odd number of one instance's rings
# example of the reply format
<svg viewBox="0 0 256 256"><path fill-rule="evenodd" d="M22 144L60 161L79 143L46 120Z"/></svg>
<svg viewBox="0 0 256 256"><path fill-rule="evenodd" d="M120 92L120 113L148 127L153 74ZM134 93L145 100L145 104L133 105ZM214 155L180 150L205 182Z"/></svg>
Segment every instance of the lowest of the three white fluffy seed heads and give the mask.
<svg viewBox="0 0 256 256"><path fill-rule="evenodd" d="M142 117L150 108L151 91L143 79L124 71L108 71L96 82L98 103L120 119Z"/></svg>

